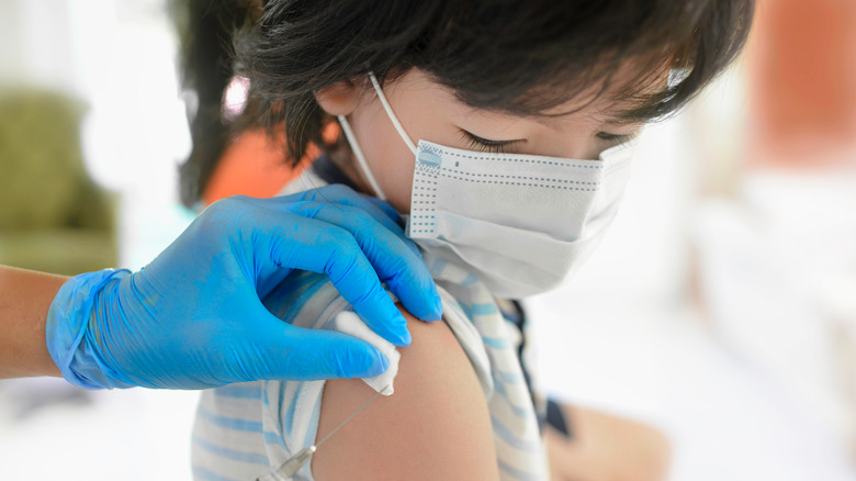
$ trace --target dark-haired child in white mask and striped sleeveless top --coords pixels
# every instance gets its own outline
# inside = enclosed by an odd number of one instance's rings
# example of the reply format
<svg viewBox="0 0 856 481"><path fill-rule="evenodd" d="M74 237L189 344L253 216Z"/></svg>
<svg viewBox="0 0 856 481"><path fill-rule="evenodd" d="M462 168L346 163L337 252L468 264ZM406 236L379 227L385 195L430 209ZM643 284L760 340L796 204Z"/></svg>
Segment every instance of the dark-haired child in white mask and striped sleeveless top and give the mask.
<svg viewBox="0 0 856 481"><path fill-rule="evenodd" d="M620 199L630 141L733 58L752 9L751 0L268 2L235 41L250 80L245 125L273 137L284 128L293 159L313 144L324 149L283 193L345 183L407 214L444 323L404 312L413 344L399 360L385 347L391 370L381 379L205 392L194 476L262 476L392 388L297 479L545 479L520 362L523 316L504 299L557 286L590 251ZM337 120L345 135L325 138ZM323 217L328 208L307 209ZM286 278L266 305L297 326L360 327L329 281L309 272Z"/></svg>

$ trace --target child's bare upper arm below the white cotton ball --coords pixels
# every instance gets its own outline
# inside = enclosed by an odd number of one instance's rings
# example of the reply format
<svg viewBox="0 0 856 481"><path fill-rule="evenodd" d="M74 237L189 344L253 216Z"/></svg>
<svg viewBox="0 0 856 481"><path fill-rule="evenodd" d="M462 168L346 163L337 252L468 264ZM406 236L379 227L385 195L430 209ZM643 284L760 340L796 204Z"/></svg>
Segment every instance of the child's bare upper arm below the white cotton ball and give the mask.
<svg viewBox="0 0 856 481"><path fill-rule="evenodd" d="M446 323L402 312L413 343L399 348L395 394L379 396L325 441L312 461L315 478L498 479L491 415L466 355ZM373 394L359 379L328 381L317 438Z"/></svg>

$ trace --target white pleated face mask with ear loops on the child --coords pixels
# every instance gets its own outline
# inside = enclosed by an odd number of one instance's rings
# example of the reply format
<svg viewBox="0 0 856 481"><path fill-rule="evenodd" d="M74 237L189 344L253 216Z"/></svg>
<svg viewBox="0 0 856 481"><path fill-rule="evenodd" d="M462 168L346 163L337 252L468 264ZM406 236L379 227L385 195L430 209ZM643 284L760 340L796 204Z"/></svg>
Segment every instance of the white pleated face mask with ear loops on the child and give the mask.
<svg viewBox="0 0 856 481"><path fill-rule="evenodd" d="M427 255L463 267L494 295L518 299L560 286L590 254L618 210L630 144L598 160L462 150L421 139L414 145L370 77L416 156L406 234ZM347 119L339 122L384 199Z"/></svg>

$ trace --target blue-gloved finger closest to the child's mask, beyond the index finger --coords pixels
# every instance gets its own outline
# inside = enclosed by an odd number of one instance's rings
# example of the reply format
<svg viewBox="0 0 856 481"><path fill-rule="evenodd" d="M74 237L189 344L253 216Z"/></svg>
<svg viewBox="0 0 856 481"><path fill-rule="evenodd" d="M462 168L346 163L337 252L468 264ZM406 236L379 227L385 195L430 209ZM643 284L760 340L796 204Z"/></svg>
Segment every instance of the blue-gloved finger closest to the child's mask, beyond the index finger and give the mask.
<svg viewBox="0 0 856 481"><path fill-rule="evenodd" d="M381 280L413 315L426 321L440 318L442 305L428 267L421 255L415 255L399 237L374 223L373 217L360 209L333 209L317 203L306 203L302 209L312 211L314 219L351 233ZM374 327L370 320L367 324Z"/></svg>

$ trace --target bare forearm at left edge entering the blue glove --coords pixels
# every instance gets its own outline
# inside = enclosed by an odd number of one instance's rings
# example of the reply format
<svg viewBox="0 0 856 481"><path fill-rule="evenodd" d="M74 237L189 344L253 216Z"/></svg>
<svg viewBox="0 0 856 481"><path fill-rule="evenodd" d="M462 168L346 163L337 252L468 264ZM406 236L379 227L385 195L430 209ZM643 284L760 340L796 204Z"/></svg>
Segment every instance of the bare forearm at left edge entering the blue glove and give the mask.
<svg viewBox="0 0 856 481"><path fill-rule="evenodd" d="M45 320L66 280L0 266L0 379L59 376L45 344Z"/></svg>

